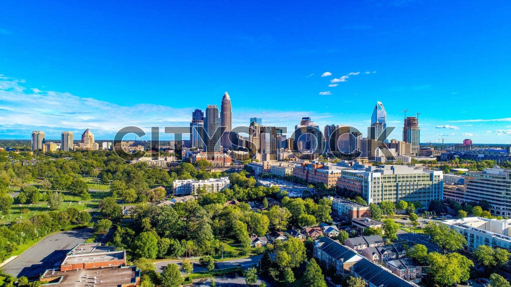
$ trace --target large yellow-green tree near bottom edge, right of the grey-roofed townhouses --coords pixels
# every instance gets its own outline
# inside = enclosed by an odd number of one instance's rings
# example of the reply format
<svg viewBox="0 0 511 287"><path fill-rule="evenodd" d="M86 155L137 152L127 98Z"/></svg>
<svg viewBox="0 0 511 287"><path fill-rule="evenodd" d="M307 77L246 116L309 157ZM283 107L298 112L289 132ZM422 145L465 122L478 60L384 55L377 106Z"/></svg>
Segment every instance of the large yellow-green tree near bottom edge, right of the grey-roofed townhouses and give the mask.
<svg viewBox="0 0 511 287"><path fill-rule="evenodd" d="M470 267L474 262L459 253L442 255L431 252L428 254L428 276L434 283L442 287L449 287L470 277Z"/></svg>

